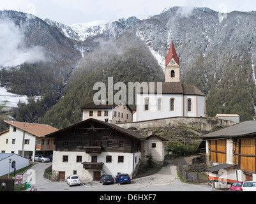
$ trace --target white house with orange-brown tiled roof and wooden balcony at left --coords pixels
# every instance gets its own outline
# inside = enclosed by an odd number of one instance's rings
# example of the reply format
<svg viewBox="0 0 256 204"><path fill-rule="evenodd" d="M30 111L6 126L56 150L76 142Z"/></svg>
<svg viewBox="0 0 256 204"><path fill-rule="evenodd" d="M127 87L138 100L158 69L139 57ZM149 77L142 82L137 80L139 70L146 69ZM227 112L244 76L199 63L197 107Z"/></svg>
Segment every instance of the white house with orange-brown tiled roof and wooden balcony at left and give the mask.
<svg viewBox="0 0 256 204"><path fill-rule="evenodd" d="M34 158L36 152L52 152L55 142L45 135L53 133L58 129L45 124L34 124L27 122L6 121L10 125L9 131L0 135L2 152L15 153L27 159Z"/></svg>

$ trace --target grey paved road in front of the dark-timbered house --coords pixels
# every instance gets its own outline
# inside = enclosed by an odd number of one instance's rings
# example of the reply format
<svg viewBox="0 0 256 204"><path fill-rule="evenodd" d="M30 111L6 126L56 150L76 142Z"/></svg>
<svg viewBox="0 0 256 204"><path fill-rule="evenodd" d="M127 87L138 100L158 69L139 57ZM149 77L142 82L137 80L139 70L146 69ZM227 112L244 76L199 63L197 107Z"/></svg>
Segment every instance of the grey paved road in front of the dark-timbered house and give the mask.
<svg viewBox="0 0 256 204"><path fill-rule="evenodd" d="M100 182L84 182L80 186L68 186L66 182L50 182L43 178L43 171L52 163L38 163L24 174L37 191L211 191L204 184L186 184L179 180L176 165L169 163L161 171L147 177L133 179L132 184L103 186Z"/></svg>

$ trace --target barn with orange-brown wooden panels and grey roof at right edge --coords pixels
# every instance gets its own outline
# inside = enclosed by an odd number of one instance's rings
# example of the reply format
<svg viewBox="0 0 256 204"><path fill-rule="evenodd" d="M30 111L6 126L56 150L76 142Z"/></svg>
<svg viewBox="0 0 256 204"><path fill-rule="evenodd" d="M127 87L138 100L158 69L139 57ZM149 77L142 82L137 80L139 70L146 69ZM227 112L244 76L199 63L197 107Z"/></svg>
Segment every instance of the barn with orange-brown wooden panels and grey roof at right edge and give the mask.
<svg viewBox="0 0 256 204"><path fill-rule="evenodd" d="M256 180L256 121L246 121L202 136L206 143L207 169L229 183ZM211 166L210 166L211 164ZM224 165L223 165L224 164ZM225 166L225 168L223 168ZM218 179L217 179L218 180ZM225 180L225 181L227 181Z"/></svg>

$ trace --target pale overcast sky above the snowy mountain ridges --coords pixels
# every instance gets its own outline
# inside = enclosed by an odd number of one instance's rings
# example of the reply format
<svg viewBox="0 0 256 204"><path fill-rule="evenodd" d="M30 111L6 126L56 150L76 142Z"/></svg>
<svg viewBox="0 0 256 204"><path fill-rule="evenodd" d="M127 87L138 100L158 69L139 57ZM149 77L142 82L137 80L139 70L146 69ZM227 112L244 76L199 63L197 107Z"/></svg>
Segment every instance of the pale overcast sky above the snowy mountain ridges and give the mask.
<svg viewBox="0 0 256 204"><path fill-rule="evenodd" d="M256 10L255 0L0 0L0 10L17 10L66 25L112 21L135 16L144 19L173 6L208 7L231 12Z"/></svg>

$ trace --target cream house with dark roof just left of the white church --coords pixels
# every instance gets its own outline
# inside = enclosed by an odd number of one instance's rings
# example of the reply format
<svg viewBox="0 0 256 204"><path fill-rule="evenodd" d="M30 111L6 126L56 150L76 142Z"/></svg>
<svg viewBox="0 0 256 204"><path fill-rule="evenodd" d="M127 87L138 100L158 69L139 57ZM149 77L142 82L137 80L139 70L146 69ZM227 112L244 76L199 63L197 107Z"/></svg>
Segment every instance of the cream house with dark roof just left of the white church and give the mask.
<svg viewBox="0 0 256 204"><path fill-rule="evenodd" d="M112 124L119 122L132 122L132 109L124 103L119 105L114 103L113 105L110 105L107 101L105 105L95 105L93 102L90 102L83 105L81 109L83 112L82 120L93 118Z"/></svg>

